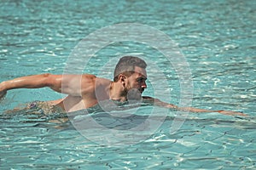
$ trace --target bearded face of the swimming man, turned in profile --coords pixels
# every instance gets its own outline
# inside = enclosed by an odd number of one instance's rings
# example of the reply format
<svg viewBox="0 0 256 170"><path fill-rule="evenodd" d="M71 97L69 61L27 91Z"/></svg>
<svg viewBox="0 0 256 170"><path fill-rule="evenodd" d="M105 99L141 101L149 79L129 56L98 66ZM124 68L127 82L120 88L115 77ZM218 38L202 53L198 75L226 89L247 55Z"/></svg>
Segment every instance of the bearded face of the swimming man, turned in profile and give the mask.
<svg viewBox="0 0 256 170"><path fill-rule="evenodd" d="M147 88L146 80L147 80L147 72L145 69L136 66L134 68L134 73L126 78L125 88L128 92L131 89L137 89L141 94L145 88Z"/></svg>

